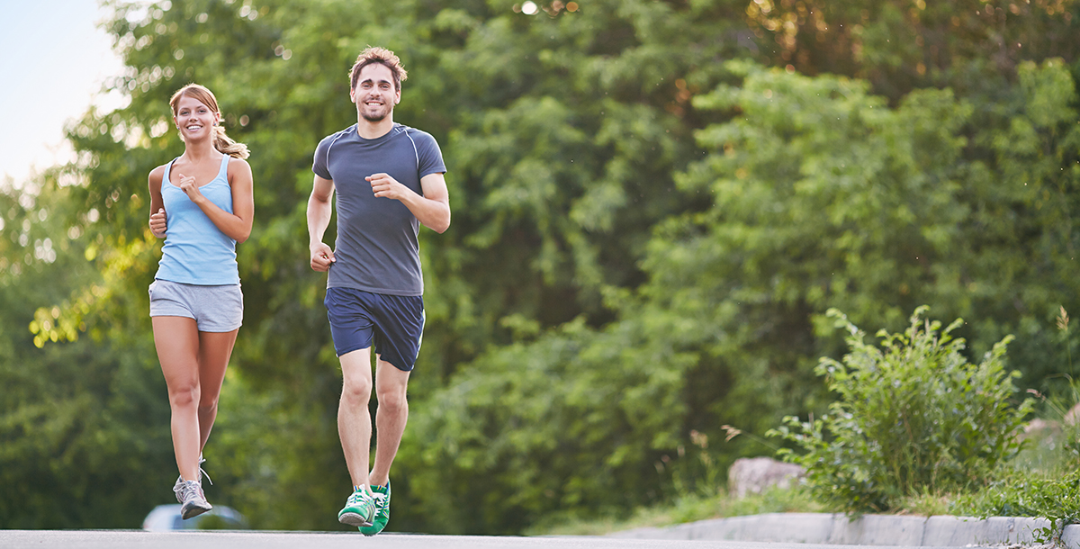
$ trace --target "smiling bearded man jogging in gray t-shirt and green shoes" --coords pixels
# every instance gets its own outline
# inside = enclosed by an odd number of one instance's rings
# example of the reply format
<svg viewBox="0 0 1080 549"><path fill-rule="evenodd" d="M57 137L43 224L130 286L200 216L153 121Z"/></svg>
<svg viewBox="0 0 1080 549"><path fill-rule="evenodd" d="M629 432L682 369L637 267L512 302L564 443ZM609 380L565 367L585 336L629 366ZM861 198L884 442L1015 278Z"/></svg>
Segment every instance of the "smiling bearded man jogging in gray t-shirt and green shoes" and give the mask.
<svg viewBox="0 0 1080 549"><path fill-rule="evenodd" d="M368 536L390 519L390 466L408 418L405 392L423 332L417 233L420 225L436 232L450 225L438 144L393 120L405 78L389 50L368 48L356 57L349 91L356 123L319 143L308 200L311 268L329 271L325 305L343 377L338 434L353 486L338 521ZM323 235L335 190L332 250ZM368 471L373 345L378 411L375 464Z"/></svg>

